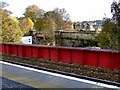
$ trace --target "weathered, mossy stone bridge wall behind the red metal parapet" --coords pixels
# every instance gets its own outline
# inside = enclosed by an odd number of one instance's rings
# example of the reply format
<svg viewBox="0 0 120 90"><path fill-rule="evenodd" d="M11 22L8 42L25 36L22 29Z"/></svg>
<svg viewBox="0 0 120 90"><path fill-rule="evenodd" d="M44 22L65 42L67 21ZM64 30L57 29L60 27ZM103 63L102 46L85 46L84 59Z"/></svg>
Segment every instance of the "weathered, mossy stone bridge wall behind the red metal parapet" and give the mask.
<svg viewBox="0 0 120 90"><path fill-rule="evenodd" d="M67 47L97 47L96 32L56 31L56 44Z"/></svg>

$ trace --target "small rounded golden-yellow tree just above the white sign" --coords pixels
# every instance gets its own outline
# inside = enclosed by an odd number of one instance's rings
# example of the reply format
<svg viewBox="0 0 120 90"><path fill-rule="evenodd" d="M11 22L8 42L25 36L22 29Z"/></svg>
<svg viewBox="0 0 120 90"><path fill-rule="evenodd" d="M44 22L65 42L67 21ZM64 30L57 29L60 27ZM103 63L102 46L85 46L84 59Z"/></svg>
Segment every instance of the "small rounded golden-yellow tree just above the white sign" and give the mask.
<svg viewBox="0 0 120 90"><path fill-rule="evenodd" d="M33 29L34 23L30 18L23 18L19 21L19 26L24 35L28 35L29 31Z"/></svg>

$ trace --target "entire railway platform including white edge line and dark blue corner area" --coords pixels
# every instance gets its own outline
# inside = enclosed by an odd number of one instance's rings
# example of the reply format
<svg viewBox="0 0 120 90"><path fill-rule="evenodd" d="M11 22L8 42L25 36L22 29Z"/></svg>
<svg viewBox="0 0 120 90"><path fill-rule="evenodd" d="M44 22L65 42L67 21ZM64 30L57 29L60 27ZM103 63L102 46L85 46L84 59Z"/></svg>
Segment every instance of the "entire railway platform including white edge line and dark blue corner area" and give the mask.
<svg viewBox="0 0 120 90"><path fill-rule="evenodd" d="M90 80L79 79L76 77L70 77L66 75L61 75L58 73L52 73L44 70L38 70L26 66L11 64L8 62L0 61L2 66L1 78L2 84L8 80L15 85L3 88L115 88L120 89L117 86L102 84ZM1 79L0 78L0 79ZM6 84L6 83L5 83ZM9 84L8 84L9 85ZM11 84L12 85L12 84ZM20 86L20 87L18 87Z"/></svg>

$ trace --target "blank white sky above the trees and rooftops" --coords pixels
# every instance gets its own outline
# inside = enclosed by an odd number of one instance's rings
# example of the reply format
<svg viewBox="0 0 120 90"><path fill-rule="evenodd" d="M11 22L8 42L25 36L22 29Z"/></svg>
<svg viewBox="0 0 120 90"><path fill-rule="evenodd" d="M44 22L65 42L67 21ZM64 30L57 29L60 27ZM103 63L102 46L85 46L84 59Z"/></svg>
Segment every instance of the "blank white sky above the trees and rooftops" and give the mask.
<svg viewBox="0 0 120 90"><path fill-rule="evenodd" d="M26 7L37 5L45 11L54 8L65 8L71 16L72 21L102 20L105 14L112 17L111 4L113 0L1 0L10 4L8 10L13 16L22 16Z"/></svg>

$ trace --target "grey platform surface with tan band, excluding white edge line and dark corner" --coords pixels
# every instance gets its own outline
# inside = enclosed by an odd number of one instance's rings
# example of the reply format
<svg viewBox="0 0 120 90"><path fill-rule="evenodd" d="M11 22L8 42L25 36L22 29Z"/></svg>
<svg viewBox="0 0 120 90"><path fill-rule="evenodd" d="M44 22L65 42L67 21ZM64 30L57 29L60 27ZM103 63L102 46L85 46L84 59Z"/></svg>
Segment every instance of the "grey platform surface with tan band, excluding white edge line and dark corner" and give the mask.
<svg viewBox="0 0 120 90"><path fill-rule="evenodd" d="M66 78L66 76L49 74L49 72L44 73L41 70L38 72L24 67L21 68L5 63L0 64L2 66L0 78L4 78L4 81L5 79L11 80L29 88L103 88L102 86L83 82L84 80L78 81Z"/></svg>

